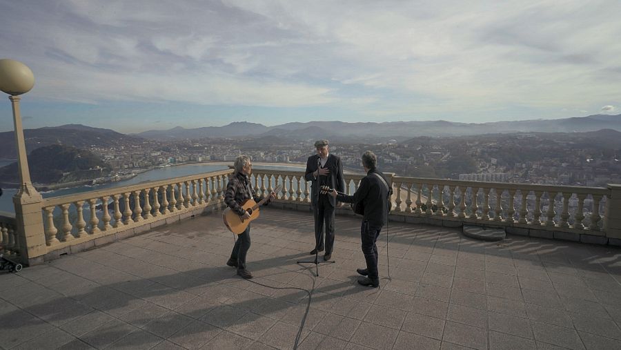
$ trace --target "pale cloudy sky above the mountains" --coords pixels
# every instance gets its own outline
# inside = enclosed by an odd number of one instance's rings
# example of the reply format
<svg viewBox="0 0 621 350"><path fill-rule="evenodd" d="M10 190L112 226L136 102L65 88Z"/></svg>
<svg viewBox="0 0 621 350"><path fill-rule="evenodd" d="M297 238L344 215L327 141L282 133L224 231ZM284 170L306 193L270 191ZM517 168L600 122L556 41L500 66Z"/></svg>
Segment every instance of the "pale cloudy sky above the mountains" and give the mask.
<svg viewBox="0 0 621 350"><path fill-rule="evenodd" d="M621 1L0 0L24 128L621 113ZM13 130L0 100L0 131Z"/></svg>

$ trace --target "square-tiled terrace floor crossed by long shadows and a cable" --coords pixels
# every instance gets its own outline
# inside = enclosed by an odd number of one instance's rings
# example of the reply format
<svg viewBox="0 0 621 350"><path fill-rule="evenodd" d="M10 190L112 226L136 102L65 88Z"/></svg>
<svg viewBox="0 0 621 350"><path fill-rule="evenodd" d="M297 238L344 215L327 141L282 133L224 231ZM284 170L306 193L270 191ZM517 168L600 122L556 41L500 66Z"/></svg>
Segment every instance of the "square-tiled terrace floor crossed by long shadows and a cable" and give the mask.
<svg viewBox="0 0 621 350"><path fill-rule="evenodd" d="M254 281L311 289L297 260L309 213L266 208L253 223ZM299 349L621 349L621 250L391 222L381 288L355 283L359 219L337 217ZM303 291L274 290L224 264L219 213L161 227L17 274L0 273L5 349L291 349Z"/></svg>

